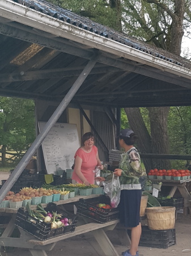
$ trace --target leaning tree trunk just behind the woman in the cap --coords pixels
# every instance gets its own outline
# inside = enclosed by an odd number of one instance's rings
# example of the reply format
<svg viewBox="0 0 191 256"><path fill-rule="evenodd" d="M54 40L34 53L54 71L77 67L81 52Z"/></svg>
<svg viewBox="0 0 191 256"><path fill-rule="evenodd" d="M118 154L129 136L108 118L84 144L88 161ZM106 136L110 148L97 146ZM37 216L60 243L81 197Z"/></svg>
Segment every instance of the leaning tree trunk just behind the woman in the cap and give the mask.
<svg viewBox="0 0 191 256"><path fill-rule="evenodd" d="M131 129L137 134L137 145L142 154L151 153L151 137L148 134L145 122L143 121L139 108L125 108L125 113L128 117ZM153 167L152 159L142 159L146 168L146 172Z"/></svg>

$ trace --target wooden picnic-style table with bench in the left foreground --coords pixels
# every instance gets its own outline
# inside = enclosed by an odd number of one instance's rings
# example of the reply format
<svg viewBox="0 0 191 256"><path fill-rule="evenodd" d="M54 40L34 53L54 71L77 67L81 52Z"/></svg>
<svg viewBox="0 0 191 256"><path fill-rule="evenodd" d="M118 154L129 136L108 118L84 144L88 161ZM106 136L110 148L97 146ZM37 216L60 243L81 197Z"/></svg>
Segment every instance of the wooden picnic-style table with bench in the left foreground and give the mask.
<svg viewBox="0 0 191 256"><path fill-rule="evenodd" d="M72 199L58 201L54 203L56 203L57 205L69 204L69 203L75 204L75 202L79 201L80 198L90 199L97 196L99 195L75 196ZM47 204L42 204L42 205L43 207L46 207ZM32 205L31 208L35 209L36 205ZM9 224L1 225L5 228L5 230L1 236L0 246L27 248L32 254L32 256L47 256L46 251L52 250L58 241L65 240L67 238L74 237L79 234L85 234L87 232L91 232L103 251L103 254L101 254L101 256L104 256L104 255L119 256L116 249L114 248L111 241L109 240L107 234L105 233L106 230L113 230L116 227L119 220L113 220L110 222L106 222L104 224L100 224L98 222L93 222L93 220L91 221L89 218L84 218L84 223L81 224L80 226L77 226L74 232L63 234L58 237L50 238L45 241L41 241L20 228L19 228L20 237L19 238L11 237L11 234L15 229L14 223L15 223L15 217L17 212L18 212L18 209L0 208L0 216L11 216L11 221L9 222ZM94 249L96 248L94 247Z"/></svg>

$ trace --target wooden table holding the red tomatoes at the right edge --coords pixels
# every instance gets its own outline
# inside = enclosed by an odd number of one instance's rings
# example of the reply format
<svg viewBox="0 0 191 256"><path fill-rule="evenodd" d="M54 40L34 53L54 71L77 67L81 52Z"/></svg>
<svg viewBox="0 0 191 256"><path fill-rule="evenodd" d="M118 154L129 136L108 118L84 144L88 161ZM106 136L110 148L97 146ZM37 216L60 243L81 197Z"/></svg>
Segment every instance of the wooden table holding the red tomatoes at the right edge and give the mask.
<svg viewBox="0 0 191 256"><path fill-rule="evenodd" d="M191 214L191 201L190 194L188 189L186 188L189 185L191 179L189 180L158 180L152 179L152 182L162 182L163 186L172 187L169 192L169 196L173 197L175 195L176 189L179 189L181 196L184 198L184 214Z"/></svg>

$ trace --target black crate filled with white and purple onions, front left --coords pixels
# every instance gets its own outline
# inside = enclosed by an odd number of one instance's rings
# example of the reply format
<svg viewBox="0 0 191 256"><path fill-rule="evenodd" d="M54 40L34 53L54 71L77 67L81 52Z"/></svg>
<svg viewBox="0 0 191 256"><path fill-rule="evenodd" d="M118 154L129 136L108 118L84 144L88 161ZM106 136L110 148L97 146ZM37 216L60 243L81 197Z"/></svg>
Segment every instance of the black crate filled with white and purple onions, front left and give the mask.
<svg viewBox="0 0 191 256"><path fill-rule="evenodd" d="M49 203L44 208L39 204L32 209L27 203L27 210L19 208L16 213L15 225L39 238L41 241L74 232L78 217L67 212L63 207Z"/></svg>

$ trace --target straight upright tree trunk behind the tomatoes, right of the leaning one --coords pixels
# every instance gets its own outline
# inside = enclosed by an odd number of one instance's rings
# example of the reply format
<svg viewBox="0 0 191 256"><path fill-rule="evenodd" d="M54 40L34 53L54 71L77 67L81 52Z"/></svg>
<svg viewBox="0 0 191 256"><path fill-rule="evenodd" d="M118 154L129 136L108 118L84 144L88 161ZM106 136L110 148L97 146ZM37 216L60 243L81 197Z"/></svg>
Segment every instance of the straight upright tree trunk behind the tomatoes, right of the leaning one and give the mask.
<svg viewBox="0 0 191 256"><path fill-rule="evenodd" d="M169 107L147 108L150 117L151 127L151 153L168 154L169 141L167 133L167 120ZM170 161L168 159L154 159L153 168L169 169Z"/></svg>

